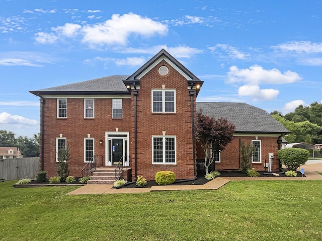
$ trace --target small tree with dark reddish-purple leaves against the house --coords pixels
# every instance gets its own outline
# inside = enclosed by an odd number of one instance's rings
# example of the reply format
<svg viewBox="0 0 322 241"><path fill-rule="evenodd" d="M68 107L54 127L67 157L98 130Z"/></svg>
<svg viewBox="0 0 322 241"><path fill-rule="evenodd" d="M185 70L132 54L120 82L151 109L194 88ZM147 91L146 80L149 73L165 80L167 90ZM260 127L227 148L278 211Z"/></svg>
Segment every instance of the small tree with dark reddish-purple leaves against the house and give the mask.
<svg viewBox="0 0 322 241"><path fill-rule="evenodd" d="M214 153L225 149L226 145L231 142L234 132L235 126L227 119L215 119L203 114L202 111L197 112L195 137L205 152L206 175L209 166L214 162Z"/></svg>

